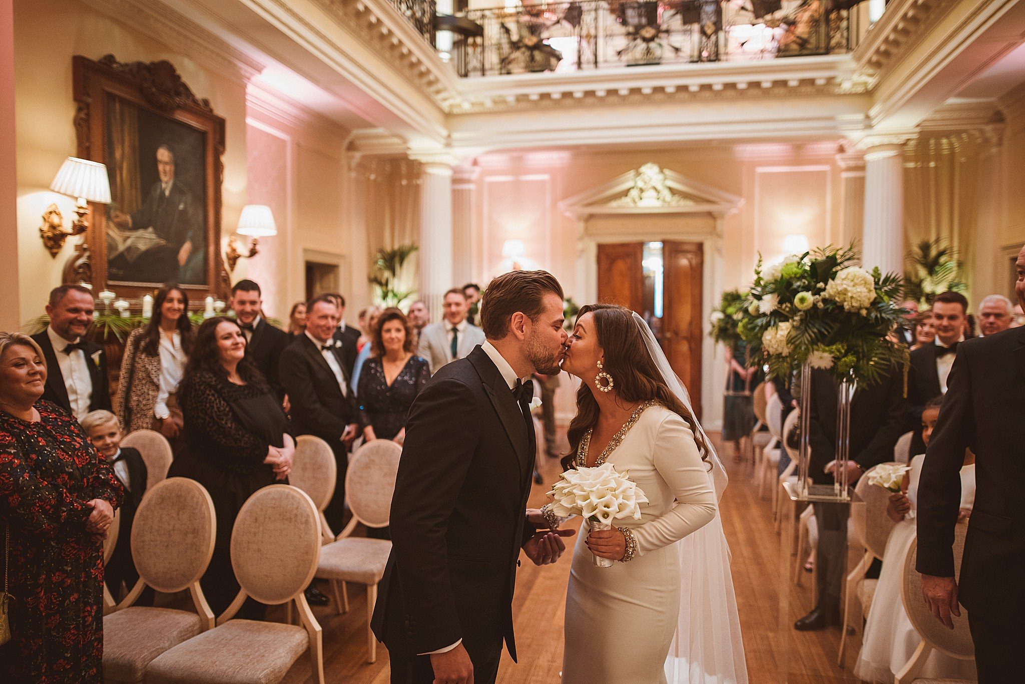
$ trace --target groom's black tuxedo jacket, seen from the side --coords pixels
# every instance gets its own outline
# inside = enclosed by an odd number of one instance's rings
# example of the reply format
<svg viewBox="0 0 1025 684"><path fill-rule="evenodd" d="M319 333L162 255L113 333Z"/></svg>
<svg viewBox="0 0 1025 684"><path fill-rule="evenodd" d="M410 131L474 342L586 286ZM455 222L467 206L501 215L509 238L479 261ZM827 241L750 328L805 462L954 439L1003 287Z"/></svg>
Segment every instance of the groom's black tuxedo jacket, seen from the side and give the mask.
<svg viewBox="0 0 1025 684"><path fill-rule="evenodd" d="M413 402L389 529L392 556L372 627L392 652L427 653L462 639L474 658L502 639L516 659L512 590L534 428L477 347Z"/></svg>

